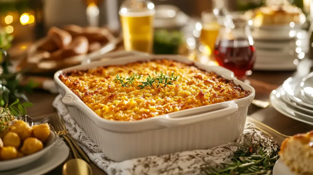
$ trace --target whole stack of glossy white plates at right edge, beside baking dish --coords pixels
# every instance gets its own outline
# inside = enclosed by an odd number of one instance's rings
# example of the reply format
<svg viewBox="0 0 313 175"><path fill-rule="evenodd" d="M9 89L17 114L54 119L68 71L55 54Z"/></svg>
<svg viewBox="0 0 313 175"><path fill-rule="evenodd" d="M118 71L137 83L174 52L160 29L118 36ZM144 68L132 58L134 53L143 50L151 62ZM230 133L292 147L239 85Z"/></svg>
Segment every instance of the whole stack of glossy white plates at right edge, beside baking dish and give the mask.
<svg viewBox="0 0 313 175"><path fill-rule="evenodd" d="M270 94L272 106L280 113L313 126L313 72L304 78L290 77Z"/></svg>

